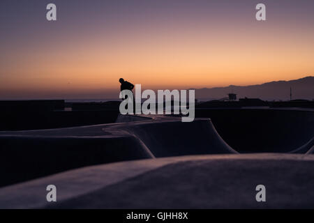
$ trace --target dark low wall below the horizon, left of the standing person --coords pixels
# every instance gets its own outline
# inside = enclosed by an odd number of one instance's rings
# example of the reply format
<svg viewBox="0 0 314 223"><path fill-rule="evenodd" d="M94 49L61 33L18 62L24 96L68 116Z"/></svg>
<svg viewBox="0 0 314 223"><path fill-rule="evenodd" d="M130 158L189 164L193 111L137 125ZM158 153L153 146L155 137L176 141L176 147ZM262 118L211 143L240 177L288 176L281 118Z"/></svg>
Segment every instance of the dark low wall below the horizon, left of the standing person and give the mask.
<svg viewBox="0 0 314 223"><path fill-rule="evenodd" d="M0 101L0 131L40 130L80 125L114 123L119 102L73 103L65 111L64 100Z"/></svg>

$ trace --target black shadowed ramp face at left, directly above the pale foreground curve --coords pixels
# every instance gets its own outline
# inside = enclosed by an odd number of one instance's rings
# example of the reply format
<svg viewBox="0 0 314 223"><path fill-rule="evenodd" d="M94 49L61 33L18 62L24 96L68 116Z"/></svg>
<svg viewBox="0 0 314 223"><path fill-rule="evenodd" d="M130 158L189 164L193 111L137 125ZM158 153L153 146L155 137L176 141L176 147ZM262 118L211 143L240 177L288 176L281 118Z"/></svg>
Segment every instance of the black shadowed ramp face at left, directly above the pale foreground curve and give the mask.
<svg viewBox="0 0 314 223"><path fill-rule="evenodd" d="M121 137L0 136L0 187L57 172L153 158L142 142Z"/></svg>

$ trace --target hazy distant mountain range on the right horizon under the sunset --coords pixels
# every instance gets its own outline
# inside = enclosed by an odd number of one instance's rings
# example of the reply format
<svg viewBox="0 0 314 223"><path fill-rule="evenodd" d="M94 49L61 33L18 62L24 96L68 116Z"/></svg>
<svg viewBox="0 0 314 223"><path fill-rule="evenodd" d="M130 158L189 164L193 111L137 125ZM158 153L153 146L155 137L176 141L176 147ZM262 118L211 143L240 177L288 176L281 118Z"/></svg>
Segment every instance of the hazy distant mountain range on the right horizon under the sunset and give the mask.
<svg viewBox="0 0 314 223"><path fill-rule="evenodd" d="M237 98L260 98L262 100L314 99L314 77L304 77L290 81L267 82L249 86L226 86L211 89L195 89L198 100L217 100L227 97L228 93L236 93Z"/></svg>

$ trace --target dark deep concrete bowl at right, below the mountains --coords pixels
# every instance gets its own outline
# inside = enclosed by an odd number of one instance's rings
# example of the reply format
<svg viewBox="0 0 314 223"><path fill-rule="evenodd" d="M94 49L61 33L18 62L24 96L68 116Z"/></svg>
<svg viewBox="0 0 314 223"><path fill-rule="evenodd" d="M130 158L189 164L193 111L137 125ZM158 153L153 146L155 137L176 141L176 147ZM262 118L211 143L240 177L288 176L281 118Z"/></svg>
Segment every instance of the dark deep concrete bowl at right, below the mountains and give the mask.
<svg viewBox="0 0 314 223"><path fill-rule="evenodd" d="M314 110L195 109L239 153L288 153L314 137Z"/></svg>

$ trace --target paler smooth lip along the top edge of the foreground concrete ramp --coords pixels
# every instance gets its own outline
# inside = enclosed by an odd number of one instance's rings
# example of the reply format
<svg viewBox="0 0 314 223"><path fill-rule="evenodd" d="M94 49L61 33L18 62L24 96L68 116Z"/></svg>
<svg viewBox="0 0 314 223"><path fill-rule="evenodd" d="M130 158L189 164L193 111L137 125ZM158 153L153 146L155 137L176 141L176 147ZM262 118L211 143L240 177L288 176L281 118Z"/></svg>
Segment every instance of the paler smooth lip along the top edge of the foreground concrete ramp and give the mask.
<svg viewBox="0 0 314 223"><path fill-rule="evenodd" d="M154 160L136 160L101 164L65 171L59 174L30 180L0 188L1 208L45 208L45 187L50 184L58 188L58 201L66 201L82 194L89 194L100 188L122 182L153 169L186 161L197 160L299 160L314 162L314 155L299 154L230 154L230 155L188 155L181 157L165 157Z"/></svg>

